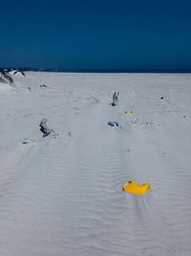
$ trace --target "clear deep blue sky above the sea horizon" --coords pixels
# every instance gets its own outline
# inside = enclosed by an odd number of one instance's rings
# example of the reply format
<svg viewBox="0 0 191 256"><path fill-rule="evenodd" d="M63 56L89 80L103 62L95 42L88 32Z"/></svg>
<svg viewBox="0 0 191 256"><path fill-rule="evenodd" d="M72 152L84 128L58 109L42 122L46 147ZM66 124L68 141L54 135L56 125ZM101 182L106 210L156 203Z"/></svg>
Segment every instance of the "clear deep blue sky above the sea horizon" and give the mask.
<svg viewBox="0 0 191 256"><path fill-rule="evenodd" d="M0 67L191 69L191 1L1 1Z"/></svg>

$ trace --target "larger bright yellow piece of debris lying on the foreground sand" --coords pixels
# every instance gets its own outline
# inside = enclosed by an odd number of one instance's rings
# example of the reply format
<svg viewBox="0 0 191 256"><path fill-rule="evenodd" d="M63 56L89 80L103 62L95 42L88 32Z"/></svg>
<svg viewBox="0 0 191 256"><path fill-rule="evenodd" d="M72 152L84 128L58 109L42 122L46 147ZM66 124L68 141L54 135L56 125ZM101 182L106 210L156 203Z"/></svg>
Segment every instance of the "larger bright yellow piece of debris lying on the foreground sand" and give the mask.
<svg viewBox="0 0 191 256"><path fill-rule="evenodd" d="M146 184L139 185L135 181L127 181L122 186L122 189L126 192L141 196L141 195L144 195L150 189L150 184L146 183Z"/></svg>

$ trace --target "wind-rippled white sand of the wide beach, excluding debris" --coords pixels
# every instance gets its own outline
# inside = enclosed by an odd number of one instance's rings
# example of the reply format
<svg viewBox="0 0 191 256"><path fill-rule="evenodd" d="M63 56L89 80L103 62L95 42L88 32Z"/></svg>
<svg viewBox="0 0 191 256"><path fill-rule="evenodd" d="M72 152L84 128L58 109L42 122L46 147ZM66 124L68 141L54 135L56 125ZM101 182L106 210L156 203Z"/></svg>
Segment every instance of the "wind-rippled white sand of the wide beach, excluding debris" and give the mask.
<svg viewBox="0 0 191 256"><path fill-rule="evenodd" d="M0 255L190 256L191 74L13 78L0 87ZM42 138L43 117L57 138ZM125 193L127 180L151 191Z"/></svg>

